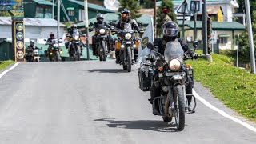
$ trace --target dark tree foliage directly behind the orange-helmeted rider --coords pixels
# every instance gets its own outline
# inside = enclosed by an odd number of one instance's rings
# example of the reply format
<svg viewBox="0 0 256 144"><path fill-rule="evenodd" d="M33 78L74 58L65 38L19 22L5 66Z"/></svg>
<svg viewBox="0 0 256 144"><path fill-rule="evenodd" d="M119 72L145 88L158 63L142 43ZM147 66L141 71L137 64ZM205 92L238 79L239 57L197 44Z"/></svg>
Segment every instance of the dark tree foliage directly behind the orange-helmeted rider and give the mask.
<svg viewBox="0 0 256 144"><path fill-rule="evenodd" d="M121 12L122 9L126 8L130 10L131 18L139 18L141 14L139 13L139 10L141 7L139 6L138 0L120 0L120 8L118 9L119 12Z"/></svg>

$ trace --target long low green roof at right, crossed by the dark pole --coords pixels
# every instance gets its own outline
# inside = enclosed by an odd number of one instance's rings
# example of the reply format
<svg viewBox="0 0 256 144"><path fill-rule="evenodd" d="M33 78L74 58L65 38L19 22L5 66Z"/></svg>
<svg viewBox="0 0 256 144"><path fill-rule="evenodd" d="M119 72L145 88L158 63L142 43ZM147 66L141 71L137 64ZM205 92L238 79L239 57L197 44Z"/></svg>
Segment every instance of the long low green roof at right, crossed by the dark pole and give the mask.
<svg viewBox="0 0 256 144"><path fill-rule="evenodd" d="M185 21L185 26L194 29L194 21ZM182 26L182 21L178 21L178 26ZM202 21L197 21L197 28L202 29ZM244 30L246 26L239 22L212 22L213 30Z"/></svg>

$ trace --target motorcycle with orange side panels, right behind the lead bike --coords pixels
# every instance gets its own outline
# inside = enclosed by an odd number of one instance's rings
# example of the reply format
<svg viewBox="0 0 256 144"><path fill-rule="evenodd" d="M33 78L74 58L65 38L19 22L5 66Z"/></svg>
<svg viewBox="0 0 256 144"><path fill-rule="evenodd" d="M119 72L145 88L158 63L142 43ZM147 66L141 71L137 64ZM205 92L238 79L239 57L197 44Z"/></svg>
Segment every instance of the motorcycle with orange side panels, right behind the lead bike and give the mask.
<svg viewBox="0 0 256 144"><path fill-rule="evenodd" d="M120 65L122 65L123 70L131 71L131 65L135 62L135 52L138 50L139 39L137 33L142 34L144 30L134 31L131 26L126 23L124 25L124 30L116 31L118 33L118 40L116 42L116 50L119 50ZM112 34L115 34L113 31Z"/></svg>

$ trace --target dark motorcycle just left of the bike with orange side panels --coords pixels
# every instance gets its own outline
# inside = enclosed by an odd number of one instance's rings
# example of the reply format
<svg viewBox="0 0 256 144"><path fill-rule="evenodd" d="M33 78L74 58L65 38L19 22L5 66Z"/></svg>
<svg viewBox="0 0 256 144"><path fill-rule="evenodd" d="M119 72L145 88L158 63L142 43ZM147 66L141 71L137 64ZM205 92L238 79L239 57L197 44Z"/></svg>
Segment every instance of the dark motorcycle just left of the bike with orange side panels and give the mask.
<svg viewBox="0 0 256 144"><path fill-rule="evenodd" d="M90 23L90 26L93 24ZM106 61L107 54L110 53L110 50L107 45L107 39L108 39L108 31L110 28L107 28L106 26L98 26L98 28L89 28L89 31L95 31L94 36L96 37L96 56L99 56L100 61Z"/></svg>

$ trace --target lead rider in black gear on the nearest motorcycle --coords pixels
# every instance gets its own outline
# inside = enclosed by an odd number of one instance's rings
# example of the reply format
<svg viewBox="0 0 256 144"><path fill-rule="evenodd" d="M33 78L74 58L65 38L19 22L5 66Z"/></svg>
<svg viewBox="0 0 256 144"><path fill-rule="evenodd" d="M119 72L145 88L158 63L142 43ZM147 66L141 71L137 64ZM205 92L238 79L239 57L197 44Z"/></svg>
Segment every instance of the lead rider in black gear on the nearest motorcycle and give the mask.
<svg viewBox="0 0 256 144"><path fill-rule="evenodd" d="M185 42L184 39L182 38L177 38L178 36L178 25L175 22L169 21L163 24L162 26L162 38L156 38L154 39L153 45L154 45L154 50L150 51L150 58L154 59L156 52L160 54L164 54L165 48L166 48L166 43L170 41L178 41L180 42L182 49L186 54L190 54L192 58L197 59L198 54L196 54L193 50L190 50L189 47L187 46L187 43ZM192 94L192 80L189 80L189 85L186 86L186 94ZM155 97L160 96L161 93L161 86L155 86L154 84L151 87L150 91L150 103L153 103L153 100ZM188 97L188 105L190 105L190 102L192 100L191 97ZM189 106L189 110L190 106Z"/></svg>

